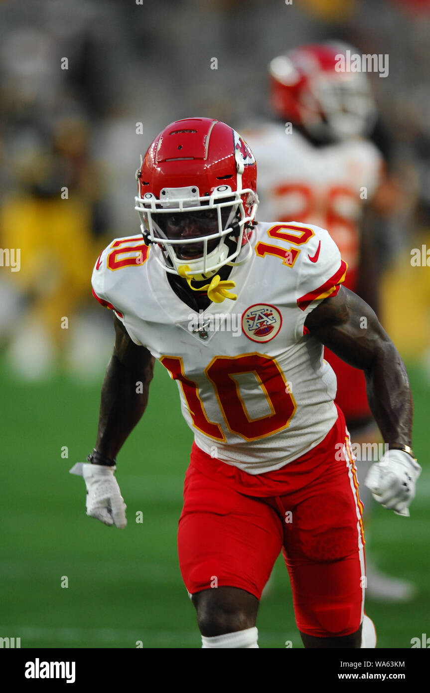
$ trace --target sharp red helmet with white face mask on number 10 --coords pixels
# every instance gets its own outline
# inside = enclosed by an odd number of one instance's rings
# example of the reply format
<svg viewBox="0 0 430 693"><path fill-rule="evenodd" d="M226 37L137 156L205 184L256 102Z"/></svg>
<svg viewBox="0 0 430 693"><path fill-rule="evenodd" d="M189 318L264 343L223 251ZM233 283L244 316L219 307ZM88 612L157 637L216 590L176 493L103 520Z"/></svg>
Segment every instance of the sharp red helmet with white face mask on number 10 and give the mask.
<svg viewBox="0 0 430 693"><path fill-rule="evenodd" d="M256 215L257 166L229 125L210 118L171 123L150 145L136 178L143 238L167 272L188 265L186 275L199 277L248 259L250 253L233 262Z"/></svg>

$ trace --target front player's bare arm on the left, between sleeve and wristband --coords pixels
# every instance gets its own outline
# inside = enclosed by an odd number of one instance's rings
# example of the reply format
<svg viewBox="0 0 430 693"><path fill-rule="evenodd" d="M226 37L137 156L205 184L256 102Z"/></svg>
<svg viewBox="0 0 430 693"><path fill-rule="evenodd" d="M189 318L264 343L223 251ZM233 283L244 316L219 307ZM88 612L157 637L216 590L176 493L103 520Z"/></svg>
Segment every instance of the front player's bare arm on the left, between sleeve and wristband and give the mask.
<svg viewBox="0 0 430 693"><path fill-rule="evenodd" d="M123 323L114 315L114 353L102 385L96 450L115 459L125 439L145 411L154 357L134 344Z"/></svg>

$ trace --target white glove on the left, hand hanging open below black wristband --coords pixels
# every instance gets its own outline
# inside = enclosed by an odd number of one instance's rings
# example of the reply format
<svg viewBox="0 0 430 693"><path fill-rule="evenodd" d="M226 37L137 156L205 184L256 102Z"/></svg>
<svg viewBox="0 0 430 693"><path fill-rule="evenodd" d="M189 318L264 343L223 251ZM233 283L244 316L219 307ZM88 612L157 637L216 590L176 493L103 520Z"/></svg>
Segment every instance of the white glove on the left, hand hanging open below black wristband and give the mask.
<svg viewBox="0 0 430 693"><path fill-rule="evenodd" d="M124 529L127 525L127 505L114 477L115 471L116 466L77 462L70 473L83 476L87 484L87 515L105 525L116 525L119 529Z"/></svg>

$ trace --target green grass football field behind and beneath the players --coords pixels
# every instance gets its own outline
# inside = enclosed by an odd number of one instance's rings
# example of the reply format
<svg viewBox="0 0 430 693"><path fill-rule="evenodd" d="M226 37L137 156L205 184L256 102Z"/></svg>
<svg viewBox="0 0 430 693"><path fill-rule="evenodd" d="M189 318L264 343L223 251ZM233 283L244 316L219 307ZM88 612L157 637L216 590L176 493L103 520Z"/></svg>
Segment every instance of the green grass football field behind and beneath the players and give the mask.
<svg viewBox="0 0 430 693"><path fill-rule="evenodd" d="M378 647L409 648L411 638L430 635L430 383L416 366L409 374L414 448L424 471L411 518L376 509L372 551L380 568L414 581L419 592L402 605L368 599ZM192 434L168 373L157 365L147 412L118 457L125 531L87 518L84 481L69 474L93 448L100 385L60 374L42 384L16 383L3 370L0 387L0 636L21 638L21 647L134 648L141 641L145 648L199 648L176 544ZM136 523L139 512L143 523ZM257 625L260 647L282 648L286 640L303 647L282 559Z"/></svg>

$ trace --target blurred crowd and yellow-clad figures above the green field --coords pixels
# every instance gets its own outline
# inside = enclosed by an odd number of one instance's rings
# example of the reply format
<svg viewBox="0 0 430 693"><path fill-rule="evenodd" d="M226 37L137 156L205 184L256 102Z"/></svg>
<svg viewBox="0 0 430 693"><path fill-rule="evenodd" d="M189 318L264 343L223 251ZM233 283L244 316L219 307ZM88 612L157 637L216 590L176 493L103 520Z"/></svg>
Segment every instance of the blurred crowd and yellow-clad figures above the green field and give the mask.
<svg viewBox="0 0 430 693"><path fill-rule="evenodd" d="M111 238L139 231L139 155L182 117L238 130L269 118L271 58L332 38L389 56L388 77L370 80L391 181L381 204L396 213L375 234L397 306L388 331L402 342L395 320L413 292L419 334L403 347L425 355L430 282L410 254L430 249L429 33L429 0L3 1L0 247L21 249L19 272L0 267L8 368L40 378L54 364L84 377L104 367L111 316L92 304L91 270Z"/></svg>

